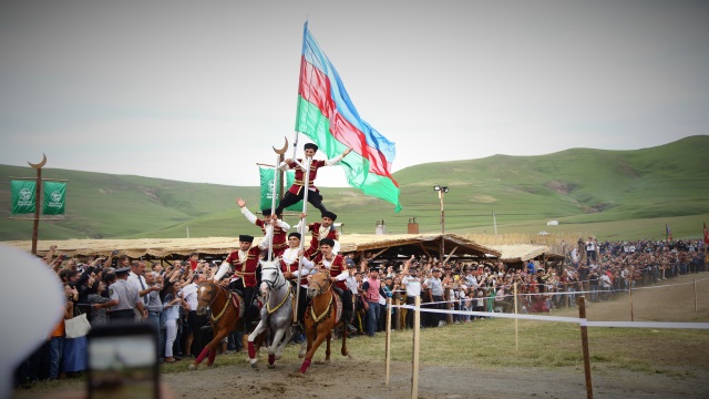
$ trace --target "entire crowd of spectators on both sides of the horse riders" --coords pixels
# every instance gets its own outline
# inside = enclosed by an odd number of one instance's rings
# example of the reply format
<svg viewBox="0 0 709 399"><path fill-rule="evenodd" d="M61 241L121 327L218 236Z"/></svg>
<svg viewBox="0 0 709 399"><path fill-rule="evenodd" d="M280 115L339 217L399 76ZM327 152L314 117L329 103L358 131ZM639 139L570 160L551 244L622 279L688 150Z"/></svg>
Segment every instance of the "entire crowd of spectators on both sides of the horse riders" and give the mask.
<svg viewBox="0 0 709 399"><path fill-rule="evenodd" d="M706 246L701 241L678 242L588 242L579 239L564 260L508 265L502 262L442 262L436 258L411 257L407 260L376 259L364 254L343 254L349 270L347 285L356 306L353 336L374 337L384 330L387 298L394 305L413 304L420 297L422 307L435 309L475 310L481 313L548 311L576 305L579 295L590 301L609 300L615 293L630 287L648 286L689 273L707 272ZM106 258L70 258L58 256L52 247L44 257L56 274L66 297L63 318L48 331L40 346L16 370L16 383L68 378L86 368L85 337L66 338L64 320L86 313L92 326L111 320L111 285L116 270L131 268L127 282L135 285L143 300L143 314L135 309L135 319L154 323L160 331L161 361L178 361L196 356L210 339L207 318L191 319L194 298L185 289L210 279L218 265L201 260L198 254L188 259L153 263L119 256L114 250ZM220 283L228 284L225 276ZM514 294L517 300L514 300ZM405 308L392 308L392 328L412 328L413 317ZM422 313L421 327L438 328L449 323L483 320L482 315L445 315ZM300 340L302 336L294 337ZM242 337L232 334L220 347L222 352L239 351Z"/></svg>

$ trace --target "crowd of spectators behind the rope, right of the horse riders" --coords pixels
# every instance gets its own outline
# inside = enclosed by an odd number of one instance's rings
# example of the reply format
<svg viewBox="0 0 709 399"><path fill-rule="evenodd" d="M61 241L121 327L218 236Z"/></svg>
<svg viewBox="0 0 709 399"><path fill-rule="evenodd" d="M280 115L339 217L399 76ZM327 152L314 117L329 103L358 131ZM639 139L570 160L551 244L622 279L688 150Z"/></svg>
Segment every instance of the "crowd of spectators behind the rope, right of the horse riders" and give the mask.
<svg viewBox="0 0 709 399"><path fill-rule="evenodd" d="M589 245L592 244L592 245ZM441 262L421 257L411 262L377 263L366 259L357 274L362 282L371 278L369 267L384 282L386 304L413 304L419 296L423 308L485 313L544 313L576 306L578 296L589 301L610 300L619 291L650 286L660 280L708 270L706 245L702 241L635 241L598 243L593 237L579 238L578 246L564 254L563 260L531 259L523 264L502 262ZM367 258L367 256L366 256ZM361 283L360 283L361 284ZM516 286L516 290L515 290ZM442 294L440 288L442 288ZM516 301L515 299L516 293ZM366 331L367 317L361 300L358 306L358 329ZM405 308L392 310L394 328L412 328L413 318ZM377 331L383 331L386 306L380 310ZM440 327L448 323L471 323L483 316L441 315L424 311L421 327ZM445 321L445 323L444 323Z"/></svg>

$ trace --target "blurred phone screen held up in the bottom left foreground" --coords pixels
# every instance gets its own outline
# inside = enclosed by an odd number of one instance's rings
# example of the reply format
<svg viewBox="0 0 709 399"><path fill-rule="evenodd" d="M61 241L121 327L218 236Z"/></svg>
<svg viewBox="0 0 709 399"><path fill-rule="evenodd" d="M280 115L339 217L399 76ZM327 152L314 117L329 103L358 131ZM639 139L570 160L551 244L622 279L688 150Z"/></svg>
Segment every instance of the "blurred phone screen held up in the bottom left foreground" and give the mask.
<svg viewBox="0 0 709 399"><path fill-rule="evenodd" d="M95 399L155 398L157 354L153 336L89 340L90 392Z"/></svg>

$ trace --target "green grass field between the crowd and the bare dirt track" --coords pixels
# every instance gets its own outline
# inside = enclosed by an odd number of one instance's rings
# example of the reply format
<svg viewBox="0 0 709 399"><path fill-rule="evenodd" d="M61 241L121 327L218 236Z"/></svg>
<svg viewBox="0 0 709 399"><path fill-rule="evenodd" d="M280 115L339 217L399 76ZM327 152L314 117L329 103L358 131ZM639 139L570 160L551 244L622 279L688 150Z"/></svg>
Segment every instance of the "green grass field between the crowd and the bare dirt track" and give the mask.
<svg viewBox="0 0 709 399"><path fill-rule="evenodd" d="M697 295L699 307L692 306L692 282L699 280ZM709 321L709 278L707 274L686 275L671 279L654 289L638 289L634 294L635 321ZM626 309L627 294L614 300L595 303L588 308L589 320L629 320ZM662 311L658 311L658 308ZM665 315L665 316L662 316ZM670 315L670 316L666 316ZM549 316L578 317L576 308L552 310ZM659 317L659 319L658 319ZM516 332L515 332L516 331ZM412 331L398 330L391 336L391 360L411 362ZM467 324L448 325L442 328L421 329L420 361L430 366L470 367L472 369L497 370L573 370L583 376L580 328L578 324L487 318ZM357 337L348 339L348 349L357 361L379 365L384 362L386 340L379 332L377 338ZM595 377L613 376L619 372L634 379L667 378L672 383L696 381L709 372L709 335L702 329L662 328L588 328L588 346L592 372ZM351 364L339 355L340 341L332 341L335 365ZM284 361L299 365L299 346L289 345L284 352ZM316 354L322 359L323 347ZM287 359L287 360L286 360ZM260 355L264 365L266 356ZM217 356L215 368L233 367L245 376L253 374L245 361L245 354ZM288 366L295 368L295 366ZM183 374L187 360L163 364L162 372ZM234 372L234 371L232 371ZM183 375L183 378L189 378ZM40 382L29 393L44 395L55 390L82 387L83 377ZM692 382L693 383L693 382Z"/></svg>

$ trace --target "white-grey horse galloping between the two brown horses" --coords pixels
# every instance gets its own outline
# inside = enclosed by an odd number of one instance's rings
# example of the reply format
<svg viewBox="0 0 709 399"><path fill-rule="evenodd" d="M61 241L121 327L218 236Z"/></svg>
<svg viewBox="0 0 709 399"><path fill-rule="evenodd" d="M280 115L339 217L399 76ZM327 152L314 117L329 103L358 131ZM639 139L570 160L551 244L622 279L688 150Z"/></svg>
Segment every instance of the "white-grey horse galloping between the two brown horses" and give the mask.
<svg viewBox="0 0 709 399"><path fill-rule="evenodd" d="M292 325L292 291L290 283L284 277L278 259L273 262L261 262L261 285L260 291L265 299L261 308L261 319L256 329L248 336L248 358L253 368L257 368L256 349L254 340L256 337L269 328L274 331L274 339L268 347L268 368L274 368L276 360L280 359L286 345L292 337L290 326ZM300 348L302 355L306 352L306 342Z"/></svg>

